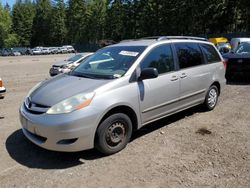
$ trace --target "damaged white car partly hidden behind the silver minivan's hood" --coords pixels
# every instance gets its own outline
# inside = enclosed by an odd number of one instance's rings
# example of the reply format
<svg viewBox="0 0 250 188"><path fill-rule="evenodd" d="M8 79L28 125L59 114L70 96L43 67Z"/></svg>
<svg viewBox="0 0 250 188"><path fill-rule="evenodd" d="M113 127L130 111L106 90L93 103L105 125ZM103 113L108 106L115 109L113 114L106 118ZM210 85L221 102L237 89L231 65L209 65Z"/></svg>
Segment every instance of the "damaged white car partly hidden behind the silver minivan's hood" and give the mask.
<svg viewBox="0 0 250 188"><path fill-rule="evenodd" d="M70 72L72 69L77 67L82 61L91 56L93 53L82 53L65 59L63 62L52 65L49 73L50 76L55 76L60 73Z"/></svg>

